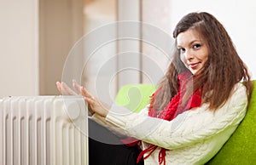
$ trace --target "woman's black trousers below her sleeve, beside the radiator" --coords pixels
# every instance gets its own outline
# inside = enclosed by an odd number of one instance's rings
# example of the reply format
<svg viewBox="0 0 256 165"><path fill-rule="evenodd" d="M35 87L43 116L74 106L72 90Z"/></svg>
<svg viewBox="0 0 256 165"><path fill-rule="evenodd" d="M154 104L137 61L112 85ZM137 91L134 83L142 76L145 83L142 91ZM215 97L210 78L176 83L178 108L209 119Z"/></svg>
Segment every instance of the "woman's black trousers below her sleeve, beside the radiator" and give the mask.
<svg viewBox="0 0 256 165"><path fill-rule="evenodd" d="M89 165L143 165L138 146L123 145L119 137L89 119Z"/></svg>

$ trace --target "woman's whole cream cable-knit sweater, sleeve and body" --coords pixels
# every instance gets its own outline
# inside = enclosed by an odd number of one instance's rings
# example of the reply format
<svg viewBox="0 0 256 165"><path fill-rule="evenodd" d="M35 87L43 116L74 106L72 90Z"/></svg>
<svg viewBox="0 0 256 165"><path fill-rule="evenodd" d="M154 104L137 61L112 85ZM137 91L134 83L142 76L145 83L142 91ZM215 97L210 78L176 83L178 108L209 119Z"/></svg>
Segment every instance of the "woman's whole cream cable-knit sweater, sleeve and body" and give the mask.
<svg viewBox="0 0 256 165"><path fill-rule="evenodd" d="M203 104L183 112L170 122L148 117L148 106L136 114L113 105L105 119L124 130L125 134L142 139L143 149L148 144L166 148L166 165L204 164L230 138L245 117L246 108L246 88L237 83L234 94L215 112L209 111L208 105ZM144 160L145 165L158 164L160 147Z"/></svg>

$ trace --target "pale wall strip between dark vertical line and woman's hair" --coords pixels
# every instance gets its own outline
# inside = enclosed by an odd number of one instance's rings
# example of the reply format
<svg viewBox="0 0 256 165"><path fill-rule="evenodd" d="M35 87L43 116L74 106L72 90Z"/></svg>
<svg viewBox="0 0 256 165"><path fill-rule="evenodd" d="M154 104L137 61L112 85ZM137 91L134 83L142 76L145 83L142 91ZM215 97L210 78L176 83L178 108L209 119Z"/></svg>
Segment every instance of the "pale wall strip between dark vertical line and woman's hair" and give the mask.
<svg viewBox="0 0 256 165"><path fill-rule="evenodd" d="M146 0L142 3L142 83L160 83L170 64L171 36L170 0Z"/></svg>

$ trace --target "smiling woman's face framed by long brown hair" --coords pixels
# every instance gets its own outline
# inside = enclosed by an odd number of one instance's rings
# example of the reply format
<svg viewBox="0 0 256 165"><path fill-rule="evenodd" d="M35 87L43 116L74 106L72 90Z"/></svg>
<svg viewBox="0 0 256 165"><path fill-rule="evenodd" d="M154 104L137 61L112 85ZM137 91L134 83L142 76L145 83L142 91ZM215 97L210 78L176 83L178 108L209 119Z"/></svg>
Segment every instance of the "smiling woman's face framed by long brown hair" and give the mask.
<svg viewBox="0 0 256 165"><path fill-rule="evenodd" d="M208 60L207 44L194 29L181 32L177 35L177 48L184 65L192 72L198 74Z"/></svg>

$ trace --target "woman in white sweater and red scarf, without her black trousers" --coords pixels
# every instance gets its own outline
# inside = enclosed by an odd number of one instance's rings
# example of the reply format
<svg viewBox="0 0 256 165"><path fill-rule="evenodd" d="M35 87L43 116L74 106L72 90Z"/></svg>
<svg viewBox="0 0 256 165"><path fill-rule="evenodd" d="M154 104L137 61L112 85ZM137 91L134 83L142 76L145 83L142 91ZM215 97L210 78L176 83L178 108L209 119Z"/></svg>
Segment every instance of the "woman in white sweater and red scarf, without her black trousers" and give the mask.
<svg viewBox="0 0 256 165"><path fill-rule="evenodd" d="M96 121L141 140L138 160L143 156L145 164L204 164L245 117L250 76L224 26L212 14L185 15L173 37L177 47L173 60L140 114L104 105L79 84L74 87L84 95ZM57 86L62 93L67 89L65 83Z"/></svg>

